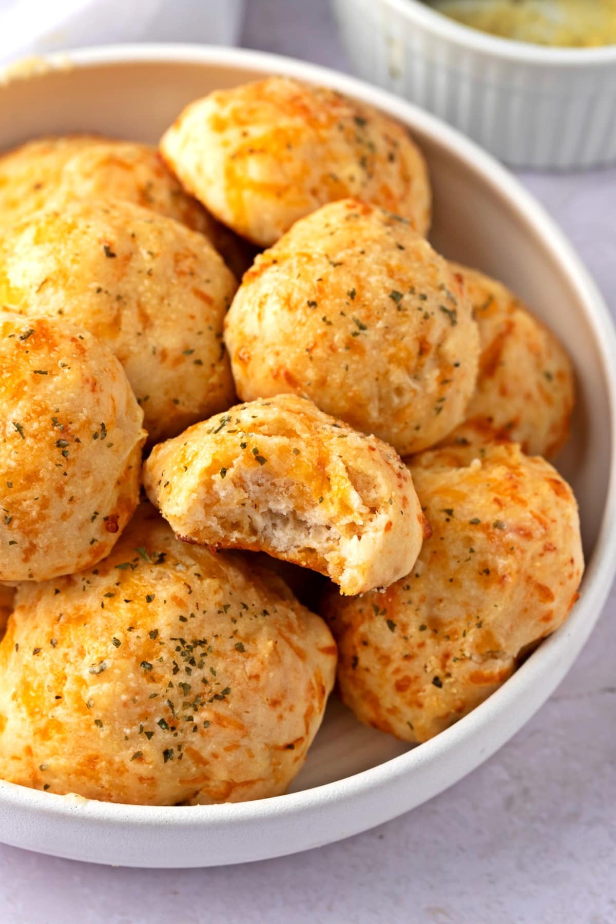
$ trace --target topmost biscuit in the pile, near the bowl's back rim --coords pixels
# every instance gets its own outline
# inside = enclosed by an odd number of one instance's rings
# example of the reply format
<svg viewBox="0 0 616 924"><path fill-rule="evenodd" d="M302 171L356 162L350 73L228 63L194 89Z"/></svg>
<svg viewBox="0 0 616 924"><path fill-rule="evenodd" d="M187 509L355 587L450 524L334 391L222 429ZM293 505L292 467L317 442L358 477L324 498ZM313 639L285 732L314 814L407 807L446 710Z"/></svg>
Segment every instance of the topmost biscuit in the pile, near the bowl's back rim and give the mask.
<svg viewBox="0 0 616 924"><path fill-rule="evenodd" d="M347 196L429 229L428 171L406 128L323 87L272 77L212 92L178 116L161 151L185 188L262 247Z"/></svg>

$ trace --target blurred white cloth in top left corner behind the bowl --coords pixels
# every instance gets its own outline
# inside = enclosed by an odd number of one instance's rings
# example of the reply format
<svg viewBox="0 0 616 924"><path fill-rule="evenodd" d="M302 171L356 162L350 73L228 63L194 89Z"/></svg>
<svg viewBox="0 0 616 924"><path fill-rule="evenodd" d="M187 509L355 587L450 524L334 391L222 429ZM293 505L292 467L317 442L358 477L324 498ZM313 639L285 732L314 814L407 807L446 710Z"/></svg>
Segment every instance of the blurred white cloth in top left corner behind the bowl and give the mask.
<svg viewBox="0 0 616 924"><path fill-rule="evenodd" d="M235 44L245 0L0 0L0 62L112 42Z"/></svg>

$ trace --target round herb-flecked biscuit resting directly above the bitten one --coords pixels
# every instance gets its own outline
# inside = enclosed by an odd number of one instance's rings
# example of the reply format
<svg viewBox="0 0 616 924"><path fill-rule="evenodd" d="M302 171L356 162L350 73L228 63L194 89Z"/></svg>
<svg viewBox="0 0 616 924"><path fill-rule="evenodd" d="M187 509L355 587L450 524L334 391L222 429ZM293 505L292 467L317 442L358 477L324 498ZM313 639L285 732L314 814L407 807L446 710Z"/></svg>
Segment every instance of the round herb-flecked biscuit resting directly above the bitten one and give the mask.
<svg viewBox="0 0 616 924"><path fill-rule="evenodd" d="M297 222L225 320L244 400L293 391L401 455L462 422L477 324L460 278L405 221L356 200Z"/></svg>

